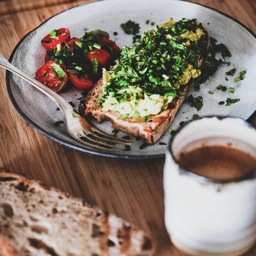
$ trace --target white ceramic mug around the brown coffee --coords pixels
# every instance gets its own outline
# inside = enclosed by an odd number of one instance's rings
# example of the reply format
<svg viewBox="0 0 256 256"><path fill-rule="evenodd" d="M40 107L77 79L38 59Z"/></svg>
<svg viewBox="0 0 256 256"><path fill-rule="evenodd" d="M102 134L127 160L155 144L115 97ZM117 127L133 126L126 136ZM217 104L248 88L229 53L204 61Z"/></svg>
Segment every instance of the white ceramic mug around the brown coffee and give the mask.
<svg viewBox="0 0 256 256"><path fill-rule="evenodd" d="M256 170L236 180L214 180L177 164L180 152L202 143L232 143L256 157L256 130L242 119L204 117L181 127L164 165L167 231L191 255L241 255L256 240Z"/></svg>

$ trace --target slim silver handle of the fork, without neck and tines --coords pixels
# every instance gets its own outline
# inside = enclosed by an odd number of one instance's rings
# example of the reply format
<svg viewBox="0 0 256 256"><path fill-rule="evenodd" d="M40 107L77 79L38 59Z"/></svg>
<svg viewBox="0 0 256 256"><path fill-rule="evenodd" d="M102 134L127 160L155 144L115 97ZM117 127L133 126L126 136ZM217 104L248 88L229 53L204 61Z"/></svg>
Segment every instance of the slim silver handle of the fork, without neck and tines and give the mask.
<svg viewBox="0 0 256 256"><path fill-rule="evenodd" d="M0 67L3 67L10 72L13 72L15 75L21 77L22 79L29 82L32 86L34 86L36 89L40 90L42 93L46 94L49 98L51 98L62 110L62 112L70 114L75 113L73 110L73 107L68 104L67 101L65 101L59 94L56 92L53 92L53 90L49 89L46 85L41 84L39 81L35 80L31 76L28 76L23 71L20 71L18 68L14 67L13 64L7 60L7 58L0 52Z"/></svg>

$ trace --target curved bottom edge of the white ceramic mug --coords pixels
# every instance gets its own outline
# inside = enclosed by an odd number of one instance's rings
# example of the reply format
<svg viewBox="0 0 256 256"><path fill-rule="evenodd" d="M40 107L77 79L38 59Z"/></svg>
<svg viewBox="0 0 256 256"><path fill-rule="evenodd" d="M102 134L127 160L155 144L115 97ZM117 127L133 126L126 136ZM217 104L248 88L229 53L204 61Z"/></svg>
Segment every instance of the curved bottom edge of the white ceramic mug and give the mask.
<svg viewBox="0 0 256 256"><path fill-rule="evenodd" d="M251 249L251 247L253 247L255 244L255 241L254 241L254 242L250 243L249 246L246 246L243 249L240 249L238 251L231 251L229 253L209 253L206 251L195 250L195 249L185 245L182 241L179 240L179 238L172 236L171 234L170 234L170 238L171 238L172 243L177 247L177 249L179 249L183 253L193 255L193 256L239 256L239 255L246 253L246 251L249 251Z"/></svg>

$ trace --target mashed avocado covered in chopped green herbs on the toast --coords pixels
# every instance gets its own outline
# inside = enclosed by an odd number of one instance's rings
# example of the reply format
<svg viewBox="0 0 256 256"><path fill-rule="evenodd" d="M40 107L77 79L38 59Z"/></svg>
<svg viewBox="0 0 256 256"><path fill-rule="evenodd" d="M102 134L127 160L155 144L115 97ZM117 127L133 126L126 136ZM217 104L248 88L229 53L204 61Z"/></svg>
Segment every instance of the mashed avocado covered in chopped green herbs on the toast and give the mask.
<svg viewBox="0 0 256 256"><path fill-rule="evenodd" d="M205 39L196 19L169 19L148 30L137 44L122 48L110 71L104 69L100 108L144 121L167 109L175 97L183 97L181 86L201 75Z"/></svg>

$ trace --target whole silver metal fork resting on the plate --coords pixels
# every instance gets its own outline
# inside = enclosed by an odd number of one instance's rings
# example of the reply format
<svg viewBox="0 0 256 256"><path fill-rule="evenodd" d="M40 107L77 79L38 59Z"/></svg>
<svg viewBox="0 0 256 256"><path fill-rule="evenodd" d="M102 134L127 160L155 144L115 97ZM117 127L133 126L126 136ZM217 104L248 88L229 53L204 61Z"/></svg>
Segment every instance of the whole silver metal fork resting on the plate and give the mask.
<svg viewBox="0 0 256 256"><path fill-rule="evenodd" d="M53 92L46 85L41 84L39 81L36 81L26 73L14 67L1 52L0 67L13 72L51 98L64 114L65 127L68 133L76 139L76 141L79 141L86 146L106 151L126 150L126 148L129 147L128 145L131 144L131 141L127 139L116 138L97 129L97 127L89 123L84 117L77 114L73 107L59 96L59 94Z"/></svg>

